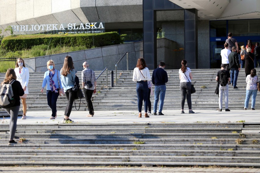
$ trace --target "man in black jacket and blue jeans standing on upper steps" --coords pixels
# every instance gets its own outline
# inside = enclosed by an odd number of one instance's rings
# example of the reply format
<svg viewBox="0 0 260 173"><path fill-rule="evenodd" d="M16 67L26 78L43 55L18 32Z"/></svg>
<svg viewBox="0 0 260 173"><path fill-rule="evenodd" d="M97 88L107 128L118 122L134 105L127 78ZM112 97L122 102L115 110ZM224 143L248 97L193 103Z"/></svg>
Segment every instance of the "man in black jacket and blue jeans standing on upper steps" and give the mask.
<svg viewBox="0 0 260 173"><path fill-rule="evenodd" d="M240 63L237 55L237 48L232 47L232 52L228 55L230 78L233 88L237 88L237 77L240 71Z"/></svg>

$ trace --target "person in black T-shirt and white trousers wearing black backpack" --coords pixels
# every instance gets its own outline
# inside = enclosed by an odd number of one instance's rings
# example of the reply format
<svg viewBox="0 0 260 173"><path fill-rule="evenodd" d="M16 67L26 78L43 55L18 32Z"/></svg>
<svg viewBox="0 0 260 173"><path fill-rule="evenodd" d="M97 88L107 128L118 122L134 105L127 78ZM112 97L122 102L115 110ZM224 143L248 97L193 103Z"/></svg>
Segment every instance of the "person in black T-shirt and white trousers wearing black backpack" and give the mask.
<svg viewBox="0 0 260 173"><path fill-rule="evenodd" d="M222 111L222 95L224 92L225 95L225 108L226 111L230 111L228 109L228 81L230 81L230 74L229 71L225 70L225 66L221 67L221 70L218 71L218 74L216 76L216 81L219 84L219 99L218 99L218 104L219 104L219 109L218 111L221 112ZM225 73L226 75L224 75L223 73ZM221 77L222 76L222 77ZM225 76L225 77L223 77ZM224 79L225 81L222 81L222 79Z"/></svg>

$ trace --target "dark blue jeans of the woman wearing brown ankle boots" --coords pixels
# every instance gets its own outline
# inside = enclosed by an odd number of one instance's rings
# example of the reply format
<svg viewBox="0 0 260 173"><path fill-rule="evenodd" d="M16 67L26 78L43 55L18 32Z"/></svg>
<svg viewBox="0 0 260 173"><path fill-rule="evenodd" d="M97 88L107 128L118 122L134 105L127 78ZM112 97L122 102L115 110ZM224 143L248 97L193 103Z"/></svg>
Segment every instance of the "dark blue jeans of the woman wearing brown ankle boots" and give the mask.
<svg viewBox="0 0 260 173"><path fill-rule="evenodd" d="M148 109L148 84L147 81L138 81L136 83L136 93L137 93L137 105L138 112L142 112L142 106L144 101L144 112L147 112Z"/></svg>

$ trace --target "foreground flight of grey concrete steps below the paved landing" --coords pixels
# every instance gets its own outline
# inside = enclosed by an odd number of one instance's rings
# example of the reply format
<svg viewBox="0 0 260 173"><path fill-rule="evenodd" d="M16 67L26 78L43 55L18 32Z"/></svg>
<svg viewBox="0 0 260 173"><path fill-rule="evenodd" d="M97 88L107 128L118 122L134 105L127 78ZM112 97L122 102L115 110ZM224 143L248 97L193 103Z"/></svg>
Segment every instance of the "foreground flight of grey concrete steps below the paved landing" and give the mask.
<svg viewBox="0 0 260 173"><path fill-rule="evenodd" d="M9 124L0 124L0 166L260 167L259 131L259 123L20 124L21 142L9 146Z"/></svg>

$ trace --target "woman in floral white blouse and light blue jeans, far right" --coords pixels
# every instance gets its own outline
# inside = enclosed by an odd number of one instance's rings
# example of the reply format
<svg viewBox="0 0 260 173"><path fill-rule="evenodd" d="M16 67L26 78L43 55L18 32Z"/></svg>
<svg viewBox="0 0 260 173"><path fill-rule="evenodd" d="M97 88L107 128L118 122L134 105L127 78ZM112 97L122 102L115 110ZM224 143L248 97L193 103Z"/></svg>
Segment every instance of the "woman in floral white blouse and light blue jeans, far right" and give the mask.
<svg viewBox="0 0 260 173"><path fill-rule="evenodd" d="M258 77L256 75L255 68L251 70L251 74L247 75L246 82L247 82L247 94L245 99L244 110L247 110L248 108L248 103L251 95L252 95L251 108L252 110L255 110L255 98L257 94L257 82L258 82Z"/></svg>

